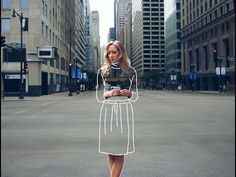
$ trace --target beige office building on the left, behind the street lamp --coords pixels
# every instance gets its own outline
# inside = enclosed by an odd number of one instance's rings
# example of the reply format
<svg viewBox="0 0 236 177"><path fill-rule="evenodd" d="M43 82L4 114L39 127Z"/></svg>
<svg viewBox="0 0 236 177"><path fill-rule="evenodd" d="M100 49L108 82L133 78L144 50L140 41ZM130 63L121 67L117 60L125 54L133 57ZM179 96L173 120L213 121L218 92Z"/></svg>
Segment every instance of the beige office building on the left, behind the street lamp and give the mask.
<svg viewBox="0 0 236 177"><path fill-rule="evenodd" d="M21 55L20 18L12 18L12 9L21 14L27 28L23 31L24 94L46 95L68 90L70 84L69 63L84 64L83 1L41 0L1 1L1 35L7 45L1 52L1 91L5 95L19 94ZM76 22L75 22L76 21ZM25 25L25 24L24 24ZM16 55L12 55L12 53Z"/></svg>

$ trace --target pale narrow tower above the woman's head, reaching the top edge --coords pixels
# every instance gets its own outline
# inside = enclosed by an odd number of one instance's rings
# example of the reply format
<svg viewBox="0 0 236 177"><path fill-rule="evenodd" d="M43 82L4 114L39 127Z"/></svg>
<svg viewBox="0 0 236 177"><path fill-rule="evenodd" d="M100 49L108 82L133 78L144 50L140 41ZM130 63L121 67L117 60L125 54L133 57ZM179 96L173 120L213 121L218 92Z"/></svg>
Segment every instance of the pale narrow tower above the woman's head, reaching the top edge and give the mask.
<svg viewBox="0 0 236 177"><path fill-rule="evenodd" d="M116 39L119 39L120 32L124 24L124 16L129 3L131 3L131 0L115 0L114 2Z"/></svg>

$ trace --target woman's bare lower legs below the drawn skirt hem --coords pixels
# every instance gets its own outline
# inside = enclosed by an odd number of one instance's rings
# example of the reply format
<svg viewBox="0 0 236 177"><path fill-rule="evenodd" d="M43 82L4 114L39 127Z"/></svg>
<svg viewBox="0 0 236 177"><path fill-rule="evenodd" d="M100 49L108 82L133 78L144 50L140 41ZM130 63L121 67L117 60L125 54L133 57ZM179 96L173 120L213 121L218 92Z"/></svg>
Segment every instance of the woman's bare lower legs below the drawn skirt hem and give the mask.
<svg viewBox="0 0 236 177"><path fill-rule="evenodd" d="M124 156L108 155L111 177L119 177L124 165Z"/></svg>

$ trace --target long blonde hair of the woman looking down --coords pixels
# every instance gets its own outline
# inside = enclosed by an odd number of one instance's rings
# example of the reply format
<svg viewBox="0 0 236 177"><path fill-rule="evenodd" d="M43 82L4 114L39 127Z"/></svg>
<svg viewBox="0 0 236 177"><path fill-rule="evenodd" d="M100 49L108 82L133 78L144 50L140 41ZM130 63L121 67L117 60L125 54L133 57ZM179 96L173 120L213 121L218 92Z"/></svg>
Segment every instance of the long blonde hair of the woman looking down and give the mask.
<svg viewBox="0 0 236 177"><path fill-rule="evenodd" d="M120 41L111 41L106 45L105 51L104 51L104 69L105 69L105 73L108 72L111 69L111 61L108 58L108 48L114 45L117 50L119 51L119 64L120 67L122 69L122 71L127 71L131 62L130 59L127 55L127 52L125 51L124 45L120 42Z"/></svg>

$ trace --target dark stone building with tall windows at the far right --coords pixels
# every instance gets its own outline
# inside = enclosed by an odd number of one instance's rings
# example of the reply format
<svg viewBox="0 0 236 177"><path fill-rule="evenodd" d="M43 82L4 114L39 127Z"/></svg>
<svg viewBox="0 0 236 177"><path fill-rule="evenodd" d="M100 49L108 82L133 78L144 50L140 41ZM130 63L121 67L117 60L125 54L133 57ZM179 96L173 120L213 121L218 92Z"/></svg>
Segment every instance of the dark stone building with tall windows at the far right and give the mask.
<svg viewBox="0 0 236 177"><path fill-rule="evenodd" d="M226 85L234 90L234 1L181 0L181 25L183 86L220 90Z"/></svg>

